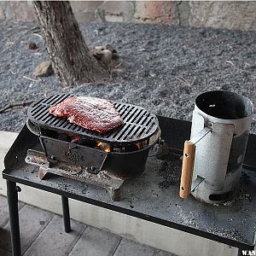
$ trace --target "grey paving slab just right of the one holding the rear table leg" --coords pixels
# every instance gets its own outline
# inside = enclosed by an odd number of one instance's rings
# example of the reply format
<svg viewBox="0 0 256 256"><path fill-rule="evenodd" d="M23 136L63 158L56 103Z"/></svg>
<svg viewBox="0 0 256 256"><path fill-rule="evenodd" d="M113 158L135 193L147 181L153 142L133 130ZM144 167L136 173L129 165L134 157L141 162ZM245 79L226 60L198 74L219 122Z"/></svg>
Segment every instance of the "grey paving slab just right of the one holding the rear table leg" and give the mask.
<svg viewBox="0 0 256 256"><path fill-rule="evenodd" d="M78 243L73 247L69 256L90 255L90 256L108 256L113 255L116 247L119 245L121 237L114 236L103 230L88 227ZM137 254L133 254L137 255Z"/></svg>

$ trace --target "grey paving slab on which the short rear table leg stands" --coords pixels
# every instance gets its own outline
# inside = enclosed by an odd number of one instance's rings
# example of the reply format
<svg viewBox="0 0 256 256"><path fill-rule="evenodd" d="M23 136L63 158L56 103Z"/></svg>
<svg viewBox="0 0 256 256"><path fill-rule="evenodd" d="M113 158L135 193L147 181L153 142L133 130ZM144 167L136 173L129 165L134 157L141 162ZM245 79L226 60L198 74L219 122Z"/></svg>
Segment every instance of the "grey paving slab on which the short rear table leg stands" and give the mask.
<svg viewBox="0 0 256 256"><path fill-rule="evenodd" d="M28 248L25 256L63 256L67 255L73 248L85 229L85 225L71 221L72 231L66 233L63 219L60 216L50 221L45 230L38 236L31 247ZM86 254L82 254L86 255Z"/></svg>

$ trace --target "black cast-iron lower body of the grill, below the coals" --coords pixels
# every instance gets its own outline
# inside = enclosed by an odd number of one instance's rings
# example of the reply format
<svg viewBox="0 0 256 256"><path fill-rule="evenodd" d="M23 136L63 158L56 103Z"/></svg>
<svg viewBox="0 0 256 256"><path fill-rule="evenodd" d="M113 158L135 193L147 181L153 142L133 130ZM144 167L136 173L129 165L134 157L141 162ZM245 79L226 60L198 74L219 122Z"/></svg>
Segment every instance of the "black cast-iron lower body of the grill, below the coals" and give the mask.
<svg viewBox="0 0 256 256"><path fill-rule="evenodd" d="M88 172L107 171L113 177L130 179L145 170L150 148L143 148L128 153L108 152L83 145L73 145L49 137L41 137L44 152L49 162L64 161L87 167Z"/></svg>

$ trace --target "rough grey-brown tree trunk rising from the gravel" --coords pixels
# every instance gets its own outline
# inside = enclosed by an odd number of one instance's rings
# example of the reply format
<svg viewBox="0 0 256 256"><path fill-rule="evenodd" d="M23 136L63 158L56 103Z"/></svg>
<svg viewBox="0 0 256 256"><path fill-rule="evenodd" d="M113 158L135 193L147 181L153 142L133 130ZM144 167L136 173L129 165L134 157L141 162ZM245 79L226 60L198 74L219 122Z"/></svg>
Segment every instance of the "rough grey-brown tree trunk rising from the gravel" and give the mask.
<svg viewBox="0 0 256 256"><path fill-rule="evenodd" d="M43 27L45 46L61 84L100 84L109 80L84 43L71 5L63 1L35 1L38 20Z"/></svg>

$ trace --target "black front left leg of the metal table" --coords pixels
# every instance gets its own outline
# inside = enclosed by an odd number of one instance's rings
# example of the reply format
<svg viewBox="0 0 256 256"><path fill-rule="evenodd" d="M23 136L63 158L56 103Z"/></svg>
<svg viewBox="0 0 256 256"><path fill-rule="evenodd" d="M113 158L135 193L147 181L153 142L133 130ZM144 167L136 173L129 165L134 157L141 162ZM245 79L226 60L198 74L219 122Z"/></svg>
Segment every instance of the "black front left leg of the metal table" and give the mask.
<svg viewBox="0 0 256 256"><path fill-rule="evenodd" d="M12 255L20 256L20 225L19 225L19 209L18 209L18 191L15 182L9 180L7 183L7 200L9 205L9 224L10 235L12 241Z"/></svg>

